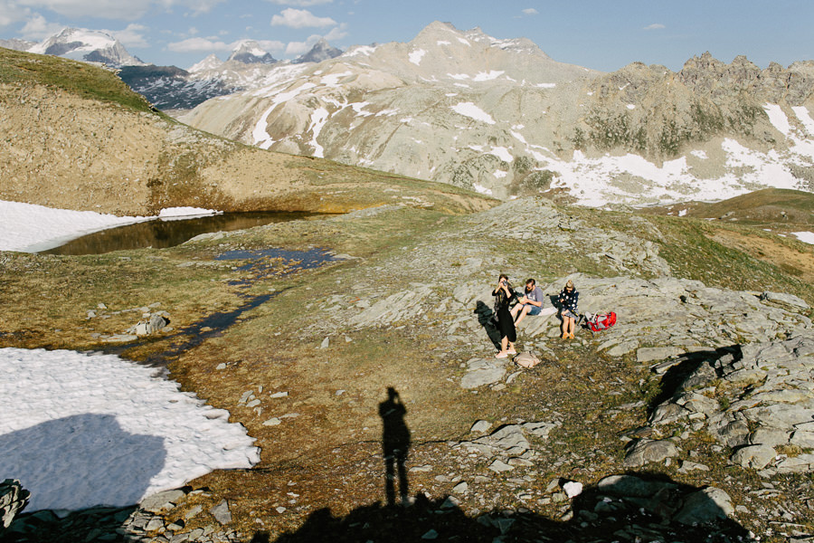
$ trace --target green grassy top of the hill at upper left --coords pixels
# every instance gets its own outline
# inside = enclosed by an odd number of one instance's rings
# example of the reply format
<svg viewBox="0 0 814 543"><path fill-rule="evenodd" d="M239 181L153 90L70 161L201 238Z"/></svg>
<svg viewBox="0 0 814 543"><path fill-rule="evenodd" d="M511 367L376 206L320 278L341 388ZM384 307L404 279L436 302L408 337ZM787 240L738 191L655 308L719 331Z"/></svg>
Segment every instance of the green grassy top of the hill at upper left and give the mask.
<svg viewBox="0 0 814 543"><path fill-rule="evenodd" d="M137 111L150 111L147 100L112 71L85 62L0 47L0 83L45 85L80 98L101 100Z"/></svg>

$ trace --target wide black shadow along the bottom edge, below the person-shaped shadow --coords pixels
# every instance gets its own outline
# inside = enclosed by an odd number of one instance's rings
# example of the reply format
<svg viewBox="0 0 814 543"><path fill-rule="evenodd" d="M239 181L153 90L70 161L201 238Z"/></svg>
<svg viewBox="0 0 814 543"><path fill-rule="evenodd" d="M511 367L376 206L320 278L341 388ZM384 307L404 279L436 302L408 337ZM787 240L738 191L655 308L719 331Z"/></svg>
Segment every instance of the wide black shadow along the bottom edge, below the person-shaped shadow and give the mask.
<svg viewBox="0 0 814 543"><path fill-rule="evenodd" d="M672 481L659 474L629 472L600 481L573 498L560 519L523 510L467 513L446 496L430 500L416 494L410 507L381 502L359 507L345 517L327 508L311 514L276 543L343 543L357 541L753 541L750 532L713 500L709 489ZM568 506L565 494L563 506ZM253 543L270 541L268 532Z"/></svg>

